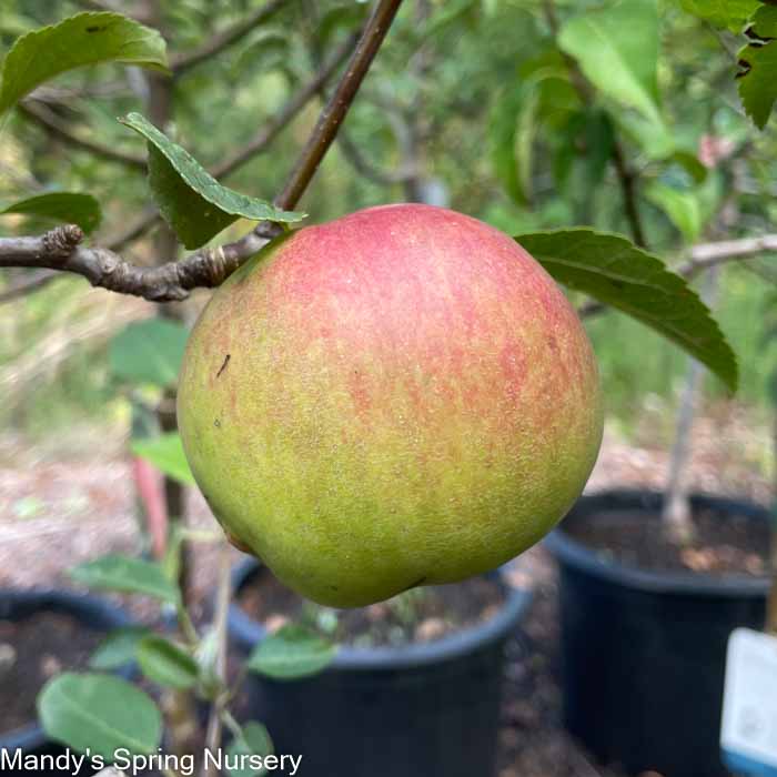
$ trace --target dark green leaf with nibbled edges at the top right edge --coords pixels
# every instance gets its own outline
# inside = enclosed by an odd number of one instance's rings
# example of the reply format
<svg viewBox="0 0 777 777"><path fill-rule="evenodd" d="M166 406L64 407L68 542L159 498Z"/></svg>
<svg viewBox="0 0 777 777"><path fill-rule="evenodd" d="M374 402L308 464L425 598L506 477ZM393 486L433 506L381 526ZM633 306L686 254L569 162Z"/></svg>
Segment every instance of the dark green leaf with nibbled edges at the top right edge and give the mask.
<svg viewBox="0 0 777 777"><path fill-rule="evenodd" d="M777 8L760 8L753 17L750 33L768 42L750 43L739 52L739 98L747 115L763 130L777 100L777 46L771 41L777 37Z"/></svg>

